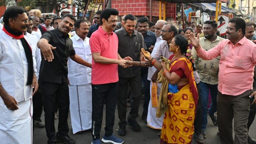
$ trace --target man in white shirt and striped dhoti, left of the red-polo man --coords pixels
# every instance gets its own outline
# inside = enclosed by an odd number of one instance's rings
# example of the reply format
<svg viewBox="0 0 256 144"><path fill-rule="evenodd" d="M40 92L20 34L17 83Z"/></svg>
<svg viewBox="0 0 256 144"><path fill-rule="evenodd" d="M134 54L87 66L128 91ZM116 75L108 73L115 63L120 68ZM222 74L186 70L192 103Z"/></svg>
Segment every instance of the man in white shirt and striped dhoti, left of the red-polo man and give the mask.
<svg viewBox="0 0 256 144"><path fill-rule="evenodd" d="M77 55L92 63L89 38L86 37L89 26L85 20L75 24L75 35L71 37ZM68 79L70 93L70 115L73 133L82 133L92 127L92 69L68 60Z"/></svg>

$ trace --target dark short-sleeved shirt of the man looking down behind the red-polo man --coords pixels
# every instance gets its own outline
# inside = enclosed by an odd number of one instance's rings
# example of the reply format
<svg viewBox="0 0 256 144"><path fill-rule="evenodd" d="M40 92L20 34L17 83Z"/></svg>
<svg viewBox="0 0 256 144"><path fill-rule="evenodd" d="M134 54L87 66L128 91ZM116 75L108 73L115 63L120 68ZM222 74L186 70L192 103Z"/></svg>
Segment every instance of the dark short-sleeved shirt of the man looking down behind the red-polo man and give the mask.
<svg viewBox="0 0 256 144"><path fill-rule="evenodd" d="M140 61L141 48L147 49L141 33L134 30L130 36L125 29L115 32L118 37L118 54L121 58L131 57L133 61ZM122 68L118 65L118 76L122 78L132 78L141 74L141 68L131 66Z"/></svg>

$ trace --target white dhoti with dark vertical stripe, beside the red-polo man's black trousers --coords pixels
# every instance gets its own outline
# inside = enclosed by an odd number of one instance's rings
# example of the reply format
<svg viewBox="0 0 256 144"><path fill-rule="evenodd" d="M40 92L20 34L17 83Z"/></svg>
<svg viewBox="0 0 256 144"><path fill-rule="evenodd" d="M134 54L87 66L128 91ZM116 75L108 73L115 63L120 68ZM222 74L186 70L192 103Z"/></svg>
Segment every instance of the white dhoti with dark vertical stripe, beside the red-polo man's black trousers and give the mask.
<svg viewBox="0 0 256 144"><path fill-rule="evenodd" d="M92 128L92 85L70 85L70 116L73 133Z"/></svg>

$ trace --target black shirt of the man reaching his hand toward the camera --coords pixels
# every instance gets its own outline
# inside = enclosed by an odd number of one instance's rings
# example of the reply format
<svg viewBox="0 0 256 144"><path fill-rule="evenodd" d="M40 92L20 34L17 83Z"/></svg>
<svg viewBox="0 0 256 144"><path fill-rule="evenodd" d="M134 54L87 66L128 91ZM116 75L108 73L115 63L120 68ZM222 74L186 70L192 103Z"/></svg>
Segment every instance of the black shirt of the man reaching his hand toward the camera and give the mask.
<svg viewBox="0 0 256 144"><path fill-rule="evenodd" d="M67 83L68 57L75 55L72 40L68 34L63 35L58 28L45 32L41 39L46 39L56 49L52 50L53 61L48 62L42 56L39 73L40 82Z"/></svg>

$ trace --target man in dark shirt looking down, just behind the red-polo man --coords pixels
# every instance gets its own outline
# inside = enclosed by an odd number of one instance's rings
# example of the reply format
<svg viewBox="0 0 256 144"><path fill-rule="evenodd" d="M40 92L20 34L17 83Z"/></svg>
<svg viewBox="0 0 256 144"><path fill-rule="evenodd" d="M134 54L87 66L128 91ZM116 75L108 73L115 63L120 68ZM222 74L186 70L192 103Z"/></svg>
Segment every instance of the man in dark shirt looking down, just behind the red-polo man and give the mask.
<svg viewBox="0 0 256 144"><path fill-rule="evenodd" d="M135 31L136 17L128 14L124 18L125 28L116 32L118 37L118 54L121 58L131 57L133 61L139 61L139 65L143 66L143 55L141 48L146 48L143 36L141 33ZM137 62L138 63L138 62ZM132 64L134 65L134 64ZM130 68L122 68L118 66L118 117L119 130L118 135L124 136L126 134L126 125L132 126L135 131L141 130L141 126L136 122L138 115L139 104L141 99L141 68L132 66ZM131 87L132 106L126 121L127 111L127 86Z"/></svg>

